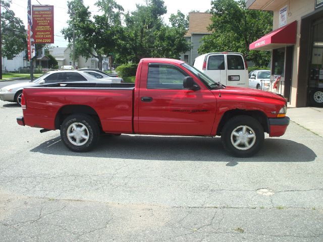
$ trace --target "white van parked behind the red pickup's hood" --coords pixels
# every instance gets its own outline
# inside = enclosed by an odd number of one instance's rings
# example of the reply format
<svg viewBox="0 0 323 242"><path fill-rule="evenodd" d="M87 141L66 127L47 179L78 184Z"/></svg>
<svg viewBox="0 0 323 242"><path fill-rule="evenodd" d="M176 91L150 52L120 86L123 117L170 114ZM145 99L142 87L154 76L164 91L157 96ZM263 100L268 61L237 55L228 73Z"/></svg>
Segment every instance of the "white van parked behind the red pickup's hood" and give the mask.
<svg viewBox="0 0 323 242"><path fill-rule="evenodd" d="M206 53L195 58L193 66L225 86L248 87L248 66L241 53Z"/></svg>

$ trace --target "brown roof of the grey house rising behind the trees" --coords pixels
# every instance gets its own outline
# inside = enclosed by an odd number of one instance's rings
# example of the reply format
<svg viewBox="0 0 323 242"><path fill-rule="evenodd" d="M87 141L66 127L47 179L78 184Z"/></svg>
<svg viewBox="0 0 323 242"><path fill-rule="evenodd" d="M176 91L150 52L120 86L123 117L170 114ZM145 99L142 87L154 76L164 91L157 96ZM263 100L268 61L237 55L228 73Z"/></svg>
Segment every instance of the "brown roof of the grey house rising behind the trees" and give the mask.
<svg viewBox="0 0 323 242"><path fill-rule="evenodd" d="M212 15L209 13L189 13L189 27L185 36L192 34L210 34L207 27L212 23Z"/></svg>

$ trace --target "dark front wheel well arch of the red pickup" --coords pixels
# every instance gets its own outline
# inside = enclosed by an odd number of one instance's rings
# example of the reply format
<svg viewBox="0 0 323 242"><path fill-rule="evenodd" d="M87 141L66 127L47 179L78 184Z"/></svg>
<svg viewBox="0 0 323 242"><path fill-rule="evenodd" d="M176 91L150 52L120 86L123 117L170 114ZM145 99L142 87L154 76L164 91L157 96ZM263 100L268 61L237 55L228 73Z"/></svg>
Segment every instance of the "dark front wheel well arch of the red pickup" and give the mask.
<svg viewBox="0 0 323 242"><path fill-rule="evenodd" d="M263 131L266 133L269 133L269 123L268 123L268 118L267 116L261 112L261 111L252 111L252 110L243 110L243 109L234 109L234 110L229 110L225 112L221 118L220 124L218 126L217 130L217 135L220 136L222 133L222 129L225 126L225 124L228 122L228 120L234 116L237 115L248 115L260 123L260 125L263 128Z"/></svg>

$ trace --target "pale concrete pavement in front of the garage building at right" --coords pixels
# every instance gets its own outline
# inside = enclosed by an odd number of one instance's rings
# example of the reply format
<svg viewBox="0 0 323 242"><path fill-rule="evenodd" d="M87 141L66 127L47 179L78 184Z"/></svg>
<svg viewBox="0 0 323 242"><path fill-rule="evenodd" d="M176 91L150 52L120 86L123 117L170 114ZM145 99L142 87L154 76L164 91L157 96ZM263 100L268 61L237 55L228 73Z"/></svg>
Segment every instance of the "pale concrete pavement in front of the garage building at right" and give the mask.
<svg viewBox="0 0 323 242"><path fill-rule="evenodd" d="M287 116L292 122L323 137L323 107L290 107Z"/></svg>

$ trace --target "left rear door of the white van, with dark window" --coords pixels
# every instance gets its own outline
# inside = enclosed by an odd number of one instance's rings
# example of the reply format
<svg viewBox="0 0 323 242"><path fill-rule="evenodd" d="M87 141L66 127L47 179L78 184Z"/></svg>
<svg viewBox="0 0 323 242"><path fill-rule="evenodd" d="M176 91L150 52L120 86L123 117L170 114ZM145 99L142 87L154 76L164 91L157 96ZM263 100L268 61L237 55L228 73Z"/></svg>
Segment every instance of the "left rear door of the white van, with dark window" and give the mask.
<svg viewBox="0 0 323 242"><path fill-rule="evenodd" d="M227 85L227 70L224 54L211 54L207 57L206 71L204 72L215 82Z"/></svg>

